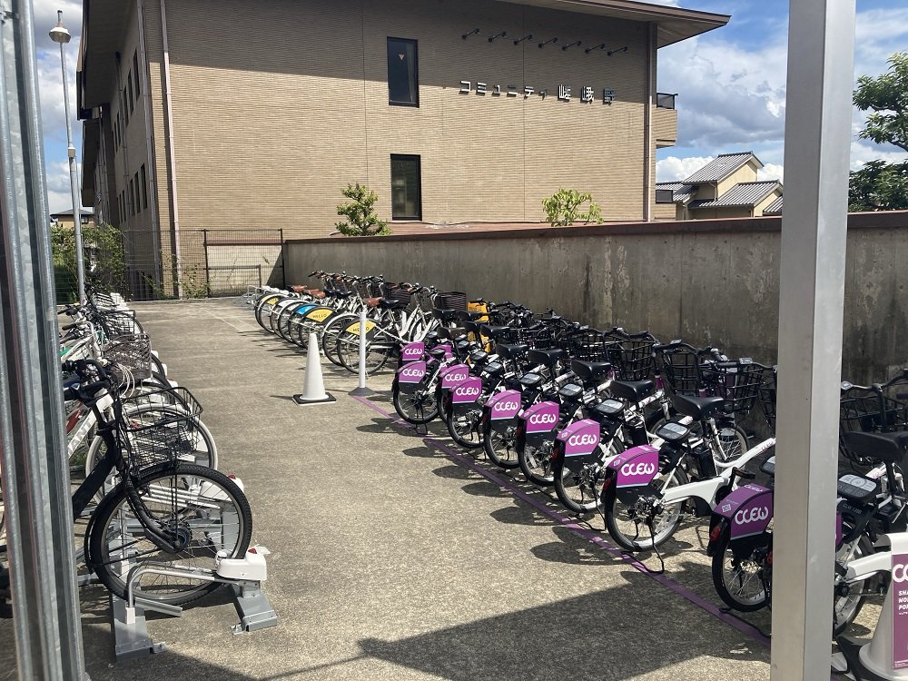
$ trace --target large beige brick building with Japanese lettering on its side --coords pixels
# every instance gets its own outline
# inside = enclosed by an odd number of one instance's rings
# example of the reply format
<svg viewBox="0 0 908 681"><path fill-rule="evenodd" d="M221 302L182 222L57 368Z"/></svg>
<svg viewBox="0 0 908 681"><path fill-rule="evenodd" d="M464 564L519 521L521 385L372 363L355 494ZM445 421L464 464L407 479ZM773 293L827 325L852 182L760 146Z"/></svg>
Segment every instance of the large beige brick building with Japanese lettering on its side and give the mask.
<svg viewBox="0 0 908 681"><path fill-rule="evenodd" d="M193 230L329 234L348 183L390 221L542 220L559 187L650 219L677 126L657 49L727 20L630 0L84 0L83 201L158 281Z"/></svg>

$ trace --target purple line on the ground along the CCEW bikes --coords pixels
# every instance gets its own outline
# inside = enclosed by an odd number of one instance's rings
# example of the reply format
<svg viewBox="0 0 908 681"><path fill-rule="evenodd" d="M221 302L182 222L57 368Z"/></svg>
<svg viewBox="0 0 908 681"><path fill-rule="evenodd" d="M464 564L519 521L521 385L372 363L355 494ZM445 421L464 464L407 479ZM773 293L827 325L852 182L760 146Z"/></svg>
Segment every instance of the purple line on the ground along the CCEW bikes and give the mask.
<svg viewBox="0 0 908 681"><path fill-rule="evenodd" d="M413 430L413 427L409 423L407 423L406 421L404 421L402 419L395 419L387 411L381 409L379 406L373 404L369 400L366 400L365 398L361 398L357 395L353 395L352 397L354 400L359 400L366 406L370 407L370 409L377 411L382 416L385 416L389 419L393 419L396 425L400 424L402 427L404 427L408 430L411 430L411 431ZM417 435L419 435L419 433L417 433ZM458 452L454 451L453 449L450 449L448 446L446 446L440 442L435 441L434 439L422 438L422 441L429 447L431 447L433 449L438 449L440 452L447 455L449 458L455 459L456 461L458 461L460 464L466 466L467 468L475 470L483 478L489 479L490 482L494 482L496 485L498 485L498 487L507 489L515 497L526 501L530 506L542 511L549 518L557 520L561 525L572 530L580 537L583 537L583 538L587 539L588 541L596 544L599 548L603 548L604 550L606 550L609 554L611 554L615 558L620 558L621 560L624 560L632 568L635 568L639 572L646 575L646 577L650 577L650 578L656 580L656 582L658 582L662 586L670 589L671 591L674 591L678 596L685 597L687 600L689 600L691 603L693 603L696 607L700 607L703 610L706 610L706 612L708 612L710 615L713 615L714 617L718 617L723 622L725 622L725 624L728 625L729 627L733 627L733 628L737 629L738 631L740 631L741 633L754 638L758 643L761 643L764 646L769 646L769 638L765 637L755 627L752 627L751 625L747 624L744 620L738 619L737 617L734 617L732 615L728 615L728 614L722 612L722 610L720 610L718 607L714 606L709 601L706 601L703 598L697 596L694 592L686 589L685 587L682 587L680 584L672 581L665 575L657 575L657 574L651 572L640 561L636 560L635 558L632 558L631 556L629 556L627 553L625 553L621 549L611 546L605 539L598 537L591 530L580 527L579 525L577 525L577 523L575 523L570 518L563 516L562 514L558 513L558 511L556 511L556 510L552 510L551 508L548 508L548 506L539 502L537 499L532 498L525 491L523 491L522 489L519 489L517 486L515 486L512 482L498 478L498 476L494 475L493 473L490 473L488 470L483 469L481 466L477 465L475 461L470 460L469 458L465 457L463 454L459 454Z"/></svg>

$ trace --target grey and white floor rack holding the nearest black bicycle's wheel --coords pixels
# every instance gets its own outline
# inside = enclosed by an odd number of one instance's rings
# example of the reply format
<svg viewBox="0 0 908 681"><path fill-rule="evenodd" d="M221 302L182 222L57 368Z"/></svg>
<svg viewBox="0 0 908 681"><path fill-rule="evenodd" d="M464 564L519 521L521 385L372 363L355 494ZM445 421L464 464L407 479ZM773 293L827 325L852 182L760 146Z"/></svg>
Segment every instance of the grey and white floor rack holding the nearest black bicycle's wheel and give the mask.
<svg viewBox="0 0 908 681"><path fill-rule="evenodd" d="M250 548L244 558L225 558L219 554L217 566L207 568L172 568L165 563L145 563L129 572L126 599L111 594L111 629L114 633L114 656L117 662L160 653L166 646L155 643L148 634L145 611L181 617L183 608L160 603L136 594L135 587L143 575L185 577L202 582L217 582L231 588L233 604L240 622L231 627L234 636L245 632L276 627L278 616L262 589L267 578L267 548ZM140 591L141 593L141 591Z"/></svg>

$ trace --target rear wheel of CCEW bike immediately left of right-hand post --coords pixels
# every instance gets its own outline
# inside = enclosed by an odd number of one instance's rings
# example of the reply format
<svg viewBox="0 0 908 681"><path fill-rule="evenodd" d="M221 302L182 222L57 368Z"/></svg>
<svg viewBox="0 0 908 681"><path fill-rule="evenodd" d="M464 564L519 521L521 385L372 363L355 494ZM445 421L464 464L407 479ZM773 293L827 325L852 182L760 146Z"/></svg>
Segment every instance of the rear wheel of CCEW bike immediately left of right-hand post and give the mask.
<svg viewBox="0 0 908 681"><path fill-rule="evenodd" d="M772 568L767 564L770 548L758 546L746 556L737 558L728 546L726 532L713 556L713 586L725 605L738 612L754 612L769 602L766 586Z"/></svg>

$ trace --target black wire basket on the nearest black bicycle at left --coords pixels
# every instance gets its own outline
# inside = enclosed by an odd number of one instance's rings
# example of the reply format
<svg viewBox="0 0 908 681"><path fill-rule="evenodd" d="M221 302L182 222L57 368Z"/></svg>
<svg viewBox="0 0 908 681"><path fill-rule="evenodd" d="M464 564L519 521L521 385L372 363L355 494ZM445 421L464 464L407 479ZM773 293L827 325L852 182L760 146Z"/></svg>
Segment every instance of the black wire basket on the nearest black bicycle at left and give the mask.
<svg viewBox="0 0 908 681"><path fill-rule="evenodd" d="M120 438L133 472L177 460L195 463L210 456L202 438L202 405L185 388L143 392L123 398Z"/></svg>

